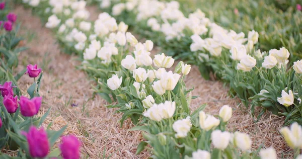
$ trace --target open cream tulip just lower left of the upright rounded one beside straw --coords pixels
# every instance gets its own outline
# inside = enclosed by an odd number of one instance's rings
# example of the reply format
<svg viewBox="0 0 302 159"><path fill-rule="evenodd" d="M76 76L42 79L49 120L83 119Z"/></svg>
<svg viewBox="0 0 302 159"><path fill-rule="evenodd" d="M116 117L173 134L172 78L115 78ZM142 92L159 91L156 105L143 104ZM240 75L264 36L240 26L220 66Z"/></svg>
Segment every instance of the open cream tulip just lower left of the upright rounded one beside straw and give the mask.
<svg viewBox="0 0 302 159"><path fill-rule="evenodd" d="M218 126L220 123L220 120L215 118L212 115L207 115L204 113L204 111L199 112L199 125L200 128L209 131L212 128Z"/></svg>

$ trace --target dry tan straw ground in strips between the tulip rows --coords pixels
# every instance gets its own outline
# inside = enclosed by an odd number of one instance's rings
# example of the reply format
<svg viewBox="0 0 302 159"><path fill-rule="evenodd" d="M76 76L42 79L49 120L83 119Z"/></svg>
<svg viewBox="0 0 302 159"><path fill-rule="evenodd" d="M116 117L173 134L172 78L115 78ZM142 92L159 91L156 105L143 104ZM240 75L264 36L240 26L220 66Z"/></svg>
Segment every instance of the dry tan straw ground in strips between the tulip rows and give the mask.
<svg viewBox="0 0 302 159"><path fill-rule="evenodd" d="M93 18L99 13L96 8L90 8L89 11ZM85 72L76 68L80 64L77 57L60 52L52 32L43 26L38 17L32 16L29 10L16 7L14 12L22 23L21 35L26 38L24 43L30 47L20 55L23 65L20 69L27 63L38 63L44 70L41 88L44 104L40 114L52 107L44 127L50 122L51 129L59 129L68 124L65 134L74 134L81 139L83 157L101 158L106 148L106 156L111 155L110 158L147 158L147 151L135 155L136 146L142 137L140 132L128 131L133 124L128 120L120 127L121 114L113 114L114 109L104 107L108 103L98 96L92 97L91 85L94 83ZM19 81L24 94L31 83L32 79L26 75ZM260 145L274 146L280 157L282 151L290 151L278 132L284 118L265 113L258 123L254 123L248 109L239 106L238 99L229 97L227 87L220 82L204 80L195 66L186 77L186 83L188 87L194 86L193 96L199 96L192 101L192 110L208 103L206 112L217 114L222 105L228 104L234 108L230 130L250 134L253 149ZM285 155L290 157L290 154Z"/></svg>

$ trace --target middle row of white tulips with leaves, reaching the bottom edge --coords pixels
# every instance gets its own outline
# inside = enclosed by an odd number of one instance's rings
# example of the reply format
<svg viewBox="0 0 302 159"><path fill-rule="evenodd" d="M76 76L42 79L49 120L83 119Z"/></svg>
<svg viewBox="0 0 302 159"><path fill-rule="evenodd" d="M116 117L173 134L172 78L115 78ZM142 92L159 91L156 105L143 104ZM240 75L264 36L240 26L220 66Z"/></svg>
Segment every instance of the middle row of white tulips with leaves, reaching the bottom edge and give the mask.
<svg viewBox="0 0 302 159"><path fill-rule="evenodd" d="M191 112L190 102L196 97L183 81L191 66L180 61L172 71L175 59L171 56L162 53L152 58L153 42L138 42L125 23L117 24L107 13L89 22L85 1L33 2L25 6L47 18L45 26L57 35L62 49L83 57L81 68L97 82L96 93L109 103L117 101L107 107L119 108L121 125L130 118L136 125L131 130L143 131L145 141L139 143L137 153L146 148L153 158L277 157L273 148L251 152L248 134L226 131L230 106L222 106L215 116L202 111L206 105ZM293 134L302 127L292 127L292 131L284 128L284 136L300 140Z"/></svg>

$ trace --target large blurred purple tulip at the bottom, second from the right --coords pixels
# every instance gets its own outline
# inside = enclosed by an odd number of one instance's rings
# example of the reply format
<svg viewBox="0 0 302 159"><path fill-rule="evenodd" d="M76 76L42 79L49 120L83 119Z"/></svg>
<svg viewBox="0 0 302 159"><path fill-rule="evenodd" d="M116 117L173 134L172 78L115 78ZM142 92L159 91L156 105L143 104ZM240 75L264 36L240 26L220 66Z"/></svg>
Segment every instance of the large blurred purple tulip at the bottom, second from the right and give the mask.
<svg viewBox="0 0 302 159"><path fill-rule="evenodd" d="M49 151L49 142L46 131L41 128L38 130L36 127L31 126L28 133L22 132L27 138L29 153L32 157L44 158Z"/></svg>

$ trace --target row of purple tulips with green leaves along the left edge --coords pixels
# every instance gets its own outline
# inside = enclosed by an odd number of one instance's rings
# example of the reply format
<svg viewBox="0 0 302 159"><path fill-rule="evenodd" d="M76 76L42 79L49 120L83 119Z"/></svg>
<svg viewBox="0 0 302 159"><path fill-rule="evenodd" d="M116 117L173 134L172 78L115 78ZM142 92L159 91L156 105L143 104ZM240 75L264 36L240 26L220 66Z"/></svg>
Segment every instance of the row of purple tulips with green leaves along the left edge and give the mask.
<svg viewBox="0 0 302 159"><path fill-rule="evenodd" d="M18 55L26 47L19 47L22 38L16 37L19 30L17 16L8 13L5 2L0 3L1 16L1 56L0 56L0 147L7 150L17 150L16 157L1 153L1 158L80 158L80 141L73 135L62 137L59 148L53 147L66 126L59 131L44 130L42 123L50 109L37 116L42 97L39 95L42 72L37 65L28 65L15 77L14 68L18 65ZM17 26L15 29L14 27ZM34 83L28 88L30 98L22 96L17 87L17 81L24 74L34 78ZM35 80L37 77L37 80ZM3 84L3 85L1 85Z"/></svg>

